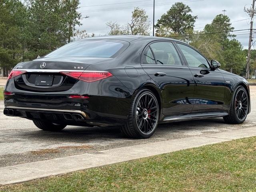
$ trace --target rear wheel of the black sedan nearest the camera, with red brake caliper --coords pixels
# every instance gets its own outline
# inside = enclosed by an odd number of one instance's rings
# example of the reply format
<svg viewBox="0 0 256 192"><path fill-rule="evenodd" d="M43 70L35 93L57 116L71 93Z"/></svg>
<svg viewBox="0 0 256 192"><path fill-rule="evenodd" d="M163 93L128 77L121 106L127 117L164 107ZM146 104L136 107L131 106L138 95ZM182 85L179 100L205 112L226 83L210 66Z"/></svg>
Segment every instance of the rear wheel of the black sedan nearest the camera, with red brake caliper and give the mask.
<svg viewBox="0 0 256 192"><path fill-rule="evenodd" d="M121 126L122 132L129 138L150 138L157 128L159 111L154 93L148 89L140 90L132 101L128 121Z"/></svg>

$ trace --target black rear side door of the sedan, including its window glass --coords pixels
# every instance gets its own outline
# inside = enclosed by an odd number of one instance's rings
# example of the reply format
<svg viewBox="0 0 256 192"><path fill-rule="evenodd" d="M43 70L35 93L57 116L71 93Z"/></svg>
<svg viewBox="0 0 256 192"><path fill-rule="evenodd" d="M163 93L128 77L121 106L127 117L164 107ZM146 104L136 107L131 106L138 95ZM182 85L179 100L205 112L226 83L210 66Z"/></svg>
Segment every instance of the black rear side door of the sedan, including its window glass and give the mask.
<svg viewBox="0 0 256 192"><path fill-rule="evenodd" d="M162 90L163 114L192 111L194 79L172 42L152 42L144 49L141 64Z"/></svg>

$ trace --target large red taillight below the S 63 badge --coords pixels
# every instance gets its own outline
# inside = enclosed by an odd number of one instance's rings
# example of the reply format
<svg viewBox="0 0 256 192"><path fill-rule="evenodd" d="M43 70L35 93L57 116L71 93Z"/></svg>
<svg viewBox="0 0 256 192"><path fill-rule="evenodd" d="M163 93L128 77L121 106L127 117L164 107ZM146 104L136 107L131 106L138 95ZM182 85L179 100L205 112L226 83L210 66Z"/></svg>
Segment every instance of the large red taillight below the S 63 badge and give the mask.
<svg viewBox="0 0 256 192"><path fill-rule="evenodd" d="M110 72L100 72L100 71L99 72L98 71L85 71L85 72L70 71L70 72L60 72L60 73L85 81L85 82L94 82L94 81L98 81L98 80L113 76Z"/></svg>

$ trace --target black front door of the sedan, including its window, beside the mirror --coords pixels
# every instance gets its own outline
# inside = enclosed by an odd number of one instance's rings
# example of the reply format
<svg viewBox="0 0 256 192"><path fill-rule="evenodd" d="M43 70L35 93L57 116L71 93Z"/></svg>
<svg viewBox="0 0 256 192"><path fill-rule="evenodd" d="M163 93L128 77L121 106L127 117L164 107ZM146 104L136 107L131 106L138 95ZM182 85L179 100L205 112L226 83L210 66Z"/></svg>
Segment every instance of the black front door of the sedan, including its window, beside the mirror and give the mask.
<svg viewBox="0 0 256 192"><path fill-rule="evenodd" d="M225 83L220 70L210 69L208 60L194 48L186 44L176 44L194 76L193 112L222 110Z"/></svg>

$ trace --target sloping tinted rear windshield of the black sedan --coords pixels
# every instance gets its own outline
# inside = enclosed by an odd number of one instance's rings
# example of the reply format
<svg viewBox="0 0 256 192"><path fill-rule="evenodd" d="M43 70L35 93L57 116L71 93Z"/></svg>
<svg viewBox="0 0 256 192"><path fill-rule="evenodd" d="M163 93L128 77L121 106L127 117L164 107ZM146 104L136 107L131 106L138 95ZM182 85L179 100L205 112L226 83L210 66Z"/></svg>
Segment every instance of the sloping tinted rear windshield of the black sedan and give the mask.
<svg viewBox="0 0 256 192"><path fill-rule="evenodd" d="M81 40L66 44L45 57L111 58L128 46L128 42L121 40Z"/></svg>

